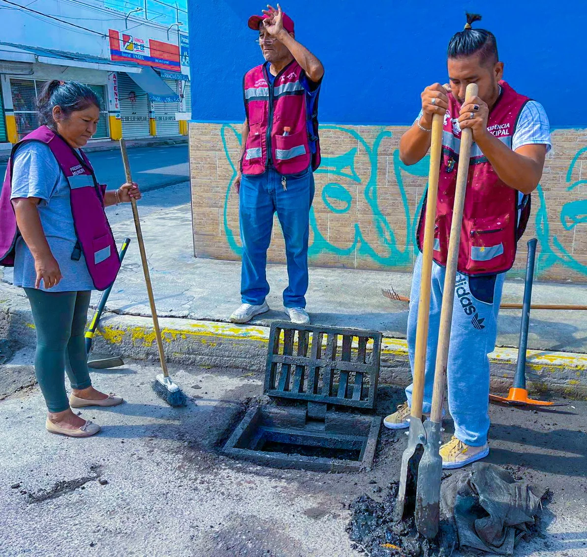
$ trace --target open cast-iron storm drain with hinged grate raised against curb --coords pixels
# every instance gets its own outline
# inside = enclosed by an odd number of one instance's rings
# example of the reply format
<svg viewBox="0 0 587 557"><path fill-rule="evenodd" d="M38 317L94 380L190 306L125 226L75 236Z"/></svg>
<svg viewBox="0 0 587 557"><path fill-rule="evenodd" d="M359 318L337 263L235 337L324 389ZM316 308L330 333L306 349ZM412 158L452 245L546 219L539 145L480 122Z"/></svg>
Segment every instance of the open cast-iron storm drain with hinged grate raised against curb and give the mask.
<svg viewBox="0 0 587 557"><path fill-rule="evenodd" d="M375 331L274 323L264 393L307 406L250 409L224 453L282 468L370 468L381 418L328 406L375 407L381 340Z"/></svg>

